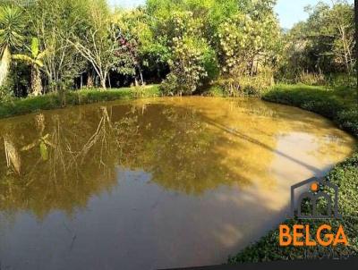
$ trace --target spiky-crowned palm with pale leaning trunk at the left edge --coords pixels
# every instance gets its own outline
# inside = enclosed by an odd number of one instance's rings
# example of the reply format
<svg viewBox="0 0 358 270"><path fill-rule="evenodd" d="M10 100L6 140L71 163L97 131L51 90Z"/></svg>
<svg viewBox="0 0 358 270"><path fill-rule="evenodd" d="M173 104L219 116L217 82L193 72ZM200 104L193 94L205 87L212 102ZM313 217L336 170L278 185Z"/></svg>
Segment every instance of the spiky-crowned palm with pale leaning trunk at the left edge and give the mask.
<svg viewBox="0 0 358 270"><path fill-rule="evenodd" d="M0 86L9 72L12 49L22 44L21 31L24 29L22 12L16 6L0 8Z"/></svg>

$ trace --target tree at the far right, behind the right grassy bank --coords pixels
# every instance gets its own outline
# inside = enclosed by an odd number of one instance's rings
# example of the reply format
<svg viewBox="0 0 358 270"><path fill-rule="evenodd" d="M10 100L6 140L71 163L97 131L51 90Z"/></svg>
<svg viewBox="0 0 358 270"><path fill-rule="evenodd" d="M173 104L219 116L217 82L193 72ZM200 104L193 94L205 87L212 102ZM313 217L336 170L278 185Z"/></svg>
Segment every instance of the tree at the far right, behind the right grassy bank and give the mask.
<svg viewBox="0 0 358 270"><path fill-rule="evenodd" d="M307 21L286 34L286 75L354 71L354 6L346 1L306 7Z"/></svg>

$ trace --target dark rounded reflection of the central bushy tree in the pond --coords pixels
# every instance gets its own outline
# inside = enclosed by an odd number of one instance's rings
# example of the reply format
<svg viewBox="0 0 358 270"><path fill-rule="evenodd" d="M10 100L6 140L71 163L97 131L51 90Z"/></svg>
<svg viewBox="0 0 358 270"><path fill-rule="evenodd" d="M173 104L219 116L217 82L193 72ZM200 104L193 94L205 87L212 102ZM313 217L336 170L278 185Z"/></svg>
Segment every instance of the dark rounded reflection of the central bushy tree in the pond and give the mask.
<svg viewBox="0 0 358 270"><path fill-rule="evenodd" d="M221 165L223 156L214 149L220 144L219 135L209 130L198 112L152 106L149 114L158 115L158 118L151 121L134 116L130 121L132 127L138 125L140 128L121 145L122 166L144 169L152 173L152 181L160 186L188 194L200 194L220 184L237 181L234 171Z"/></svg>

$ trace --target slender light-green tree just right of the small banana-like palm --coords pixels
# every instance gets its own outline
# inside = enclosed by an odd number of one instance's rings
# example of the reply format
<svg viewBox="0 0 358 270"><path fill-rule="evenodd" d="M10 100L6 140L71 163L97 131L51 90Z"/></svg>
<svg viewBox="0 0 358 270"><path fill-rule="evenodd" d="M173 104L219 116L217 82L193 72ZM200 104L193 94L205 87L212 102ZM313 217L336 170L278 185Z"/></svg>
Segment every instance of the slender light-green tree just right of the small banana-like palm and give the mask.
<svg viewBox="0 0 358 270"><path fill-rule="evenodd" d="M88 1L38 0L29 8L33 32L47 54L42 59L48 90L72 87L85 70L86 61L69 42L81 36L89 23L85 20Z"/></svg>

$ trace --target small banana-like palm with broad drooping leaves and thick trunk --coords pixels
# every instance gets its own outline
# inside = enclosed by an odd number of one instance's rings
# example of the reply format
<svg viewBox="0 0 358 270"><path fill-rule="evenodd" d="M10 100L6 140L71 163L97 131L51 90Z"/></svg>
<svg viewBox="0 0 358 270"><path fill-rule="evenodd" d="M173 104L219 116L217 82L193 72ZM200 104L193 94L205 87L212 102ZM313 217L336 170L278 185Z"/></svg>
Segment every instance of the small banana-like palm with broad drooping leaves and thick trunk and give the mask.
<svg viewBox="0 0 358 270"><path fill-rule="evenodd" d="M46 51L39 52L38 38L32 38L31 55L13 55L13 59L20 60L25 63L28 63L31 66L31 96L38 96L42 94L42 84L41 84L41 72L40 68L43 67L41 59L46 55Z"/></svg>

